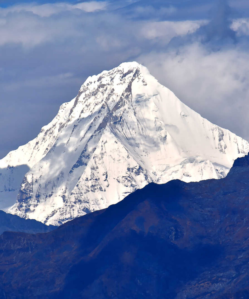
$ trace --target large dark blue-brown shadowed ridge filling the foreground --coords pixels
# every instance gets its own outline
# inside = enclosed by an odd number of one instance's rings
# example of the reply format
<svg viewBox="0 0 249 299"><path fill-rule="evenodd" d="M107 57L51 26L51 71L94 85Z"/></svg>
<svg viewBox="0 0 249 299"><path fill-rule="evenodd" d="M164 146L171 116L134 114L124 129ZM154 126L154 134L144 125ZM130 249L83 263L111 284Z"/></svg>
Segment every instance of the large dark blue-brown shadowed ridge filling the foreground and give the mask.
<svg viewBox="0 0 249 299"><path fill-rule="evenodd" d="M149 184L46 234L0 237L0 298L249 298L249 160Z"/></svg>

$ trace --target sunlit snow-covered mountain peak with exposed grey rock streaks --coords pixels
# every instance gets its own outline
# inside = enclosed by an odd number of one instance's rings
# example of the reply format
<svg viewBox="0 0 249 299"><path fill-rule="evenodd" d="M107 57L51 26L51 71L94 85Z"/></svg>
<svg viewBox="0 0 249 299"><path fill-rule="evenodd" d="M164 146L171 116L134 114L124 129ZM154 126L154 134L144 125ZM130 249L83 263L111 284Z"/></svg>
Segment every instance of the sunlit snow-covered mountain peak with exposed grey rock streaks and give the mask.
<svg viewBox="0 0 249 299"><path fill-rule="evenodd" d="M122 63L88 77L37 138L0 161L0 208L57 225L150 182L222 178L248 151L144 66Z"/></svg>

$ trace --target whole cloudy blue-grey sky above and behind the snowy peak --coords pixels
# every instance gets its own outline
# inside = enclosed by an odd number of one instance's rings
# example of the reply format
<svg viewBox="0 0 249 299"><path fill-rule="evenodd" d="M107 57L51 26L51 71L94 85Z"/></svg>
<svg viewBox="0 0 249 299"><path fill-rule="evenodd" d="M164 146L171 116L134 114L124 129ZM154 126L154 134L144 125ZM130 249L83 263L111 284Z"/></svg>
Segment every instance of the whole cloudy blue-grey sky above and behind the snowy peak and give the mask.
<svg viewBox="0 0 249 299"><path fill-rule="evenodd" d="M0 1L0 157L89 75L146 65L203 117L249 139L249 1Z"/></svg>

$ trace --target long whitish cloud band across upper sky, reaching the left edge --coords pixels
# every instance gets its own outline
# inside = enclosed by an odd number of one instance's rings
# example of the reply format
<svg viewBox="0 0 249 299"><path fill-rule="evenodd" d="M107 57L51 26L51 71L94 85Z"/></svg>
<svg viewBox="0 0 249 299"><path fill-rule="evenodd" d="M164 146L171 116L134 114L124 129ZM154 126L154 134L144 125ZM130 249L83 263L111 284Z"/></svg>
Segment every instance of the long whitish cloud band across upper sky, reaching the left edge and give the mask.
<svg viewBox="0 0 249 299"><path fill-rule="evenodd" d="M104 51L110 48L126 48L130 44L142 48L146 40L168 43L174 36L194 32L201 21L150 22L126 19L116 12L103 11L104 2L83 2L79 4L20 4L0 10L0 45L21 44L32 48L42 43L70 40L76 45L100 46ZM89 13L95 12L95 13ZM85 40L85 42L83 42ZM83 46L84 48L84 46Z"/></svg>

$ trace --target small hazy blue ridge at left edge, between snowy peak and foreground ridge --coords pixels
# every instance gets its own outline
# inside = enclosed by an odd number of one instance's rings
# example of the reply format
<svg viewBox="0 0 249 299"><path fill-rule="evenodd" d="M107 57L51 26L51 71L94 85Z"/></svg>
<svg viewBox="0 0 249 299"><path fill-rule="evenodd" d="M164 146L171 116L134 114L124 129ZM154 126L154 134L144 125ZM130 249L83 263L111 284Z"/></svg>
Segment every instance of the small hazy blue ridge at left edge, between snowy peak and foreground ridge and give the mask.
<svg viewBox="0 0 249 299"><path fill-rule="evenodd" d="M0 234L4 231L19 231L29 234L47 233L57 226L45 225L34 219L24 219L0 210Z"/></svg>

